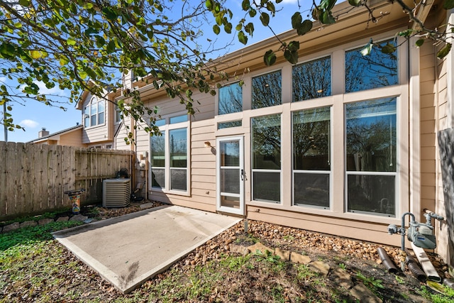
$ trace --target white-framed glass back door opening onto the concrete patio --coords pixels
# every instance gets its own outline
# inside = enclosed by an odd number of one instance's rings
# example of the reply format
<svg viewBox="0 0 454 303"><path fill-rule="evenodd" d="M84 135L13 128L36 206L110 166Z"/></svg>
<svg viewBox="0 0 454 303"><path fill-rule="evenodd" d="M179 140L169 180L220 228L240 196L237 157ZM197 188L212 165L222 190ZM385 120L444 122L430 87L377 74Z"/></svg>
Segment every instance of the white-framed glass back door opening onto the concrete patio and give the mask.
<svg viewBox="0 0 454 303"><path fill-rule="evenodd" d="M243 137L218 138L216 146L216 209L244 215Z"/></svg>

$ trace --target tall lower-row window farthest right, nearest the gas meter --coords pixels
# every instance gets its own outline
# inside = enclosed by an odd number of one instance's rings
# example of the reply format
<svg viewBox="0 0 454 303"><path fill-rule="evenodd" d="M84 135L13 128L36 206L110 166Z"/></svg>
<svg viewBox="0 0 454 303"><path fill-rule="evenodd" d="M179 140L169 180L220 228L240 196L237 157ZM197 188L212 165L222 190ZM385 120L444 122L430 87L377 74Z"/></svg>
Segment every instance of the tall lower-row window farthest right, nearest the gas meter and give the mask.
<svg viewBox="0 0 454 303"><path fill-rule="evenodd" d="M396 216L397 98L345 104L348 211Z"/></svg>

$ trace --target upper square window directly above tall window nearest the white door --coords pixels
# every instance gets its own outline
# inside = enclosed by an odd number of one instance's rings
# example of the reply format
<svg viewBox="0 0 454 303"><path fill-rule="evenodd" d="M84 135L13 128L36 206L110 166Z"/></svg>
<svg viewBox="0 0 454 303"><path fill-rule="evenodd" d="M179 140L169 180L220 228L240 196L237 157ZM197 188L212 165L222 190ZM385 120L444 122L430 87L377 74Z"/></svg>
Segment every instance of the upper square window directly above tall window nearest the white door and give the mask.
<svg viewBox="0 0 454 303"><path fill-rule="evenodd" d="M282 104L281 71L253 77L252 109Z"/></svg>

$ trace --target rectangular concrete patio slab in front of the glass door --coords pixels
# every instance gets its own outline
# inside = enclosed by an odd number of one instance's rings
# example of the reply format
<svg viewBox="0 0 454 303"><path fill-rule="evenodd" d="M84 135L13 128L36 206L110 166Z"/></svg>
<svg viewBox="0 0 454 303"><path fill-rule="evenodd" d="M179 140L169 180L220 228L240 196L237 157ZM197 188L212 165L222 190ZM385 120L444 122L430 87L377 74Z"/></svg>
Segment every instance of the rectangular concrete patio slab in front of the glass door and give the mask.
<svg viewBox="0 0 454 303"><path fill-rule="evenodd" d="M160 206L53 233L80 260L128 293L241 219Z"/></svg>

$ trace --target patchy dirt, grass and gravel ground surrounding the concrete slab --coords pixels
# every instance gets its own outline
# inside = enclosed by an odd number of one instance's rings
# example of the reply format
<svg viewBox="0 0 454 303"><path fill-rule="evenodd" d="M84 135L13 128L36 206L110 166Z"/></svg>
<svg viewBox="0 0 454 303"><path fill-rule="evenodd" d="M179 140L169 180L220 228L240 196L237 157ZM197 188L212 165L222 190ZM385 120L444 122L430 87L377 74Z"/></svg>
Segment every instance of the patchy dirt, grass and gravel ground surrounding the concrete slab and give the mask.
<svg viewBox="0 0 454 303"><path fill-rule="evenodd" d="M138 210L138 205L89 207L82 214L106 219ZM408 270L392 275L377 262L375 243L259 221L248 221L248 233L244 221L236 224L131 294L121 294L59 243L46 241L45 249L24 255L23 264L0 272L0 280L4 280L0 302L356 302L332 275L316 275L305 265L282 262L273 255L242 255L231 249L232 245L245 248L258 242L323 261L331 272L341 268L350 275L352 285L366 285L382 302L433 302L428 297L434 292ZM399 268L399 249L384 249ZM437 255L429 257L445 277L447 266ZM53 274L39 280L42 272ZM11 278L17 276L23 279ZM442 297L436 302L452 301Z"/></svg>

